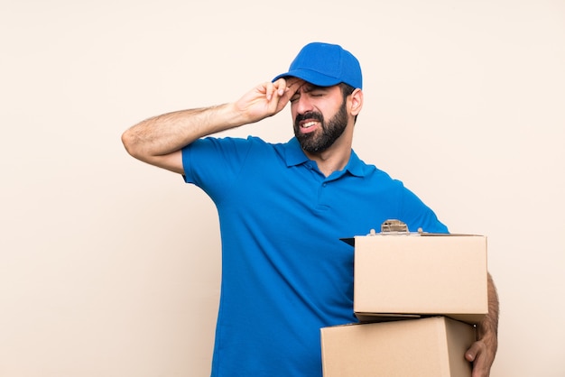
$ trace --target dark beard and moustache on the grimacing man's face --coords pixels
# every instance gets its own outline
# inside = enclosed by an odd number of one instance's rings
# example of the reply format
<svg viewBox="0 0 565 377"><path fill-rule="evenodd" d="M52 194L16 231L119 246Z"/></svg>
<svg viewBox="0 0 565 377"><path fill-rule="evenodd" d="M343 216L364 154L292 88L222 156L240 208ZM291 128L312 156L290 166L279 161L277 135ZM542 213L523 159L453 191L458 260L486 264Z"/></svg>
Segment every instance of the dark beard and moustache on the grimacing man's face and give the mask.
<svg viewBox="0 0 565 377"><path fill-rule="evenodd" d="M300 122L304 119L315 119L320 122L320 130L313 133L301 133ZM310 153L318 153L326 151L333 143L338 140L339 136L347 127L347 108L346 101L338 110L338 114L329 119L328 124L324 121L323 115L317 112L309 112L303 115L297 115L294 120L294 135L301 143L304 151ZM320 133L321 131L321 133Z"/></svg>

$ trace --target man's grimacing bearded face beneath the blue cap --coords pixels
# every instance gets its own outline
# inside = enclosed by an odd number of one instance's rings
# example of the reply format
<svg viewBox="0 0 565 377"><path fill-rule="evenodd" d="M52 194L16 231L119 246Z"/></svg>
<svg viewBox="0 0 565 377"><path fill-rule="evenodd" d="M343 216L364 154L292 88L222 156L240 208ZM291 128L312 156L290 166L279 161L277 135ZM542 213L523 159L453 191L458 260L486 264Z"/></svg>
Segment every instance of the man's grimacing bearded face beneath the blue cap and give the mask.
<svg viewBox="0 0 565 377"><path fill-rule="evenodd" d="M305 83L292 96L291 103L294 135L306 152L326 151L347 127L346 98L338 86Z"/></svg>

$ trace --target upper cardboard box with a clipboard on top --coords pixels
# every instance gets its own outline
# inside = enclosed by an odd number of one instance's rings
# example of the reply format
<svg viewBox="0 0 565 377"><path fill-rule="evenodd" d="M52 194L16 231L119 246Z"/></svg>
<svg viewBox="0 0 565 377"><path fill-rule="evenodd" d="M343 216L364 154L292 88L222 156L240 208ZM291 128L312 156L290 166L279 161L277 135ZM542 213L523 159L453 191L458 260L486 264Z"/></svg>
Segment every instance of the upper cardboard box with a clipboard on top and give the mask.
<svg viewBox="0 0 565 377"><path fill-rule="evenodd" d="M486 237L355 237L354 311L360 321L448 316L477 324L488 313Z"/></svg>

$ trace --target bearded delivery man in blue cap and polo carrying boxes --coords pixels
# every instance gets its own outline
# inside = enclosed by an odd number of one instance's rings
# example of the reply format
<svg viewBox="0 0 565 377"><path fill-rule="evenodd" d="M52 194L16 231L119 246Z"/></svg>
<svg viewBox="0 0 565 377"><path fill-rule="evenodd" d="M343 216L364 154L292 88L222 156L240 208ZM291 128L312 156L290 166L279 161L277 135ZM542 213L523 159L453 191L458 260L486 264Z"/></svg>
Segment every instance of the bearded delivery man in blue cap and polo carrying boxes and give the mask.
<svg viewBox="0 0 565 377"><path fill-rule="evenodd" d="M258 122L290 102L295 137L212 138ZM213 376L321 375L320 328L356 321L353 250L340 237L367 234L386 219L410 230L447 232L400 181L352 151L363 106L357 59L314 42L288 72L234 103L182 110L127 130L135 158L181 174L218 207L222 283ZM466 354L474 377L496 354L497 299Z"/></svg>

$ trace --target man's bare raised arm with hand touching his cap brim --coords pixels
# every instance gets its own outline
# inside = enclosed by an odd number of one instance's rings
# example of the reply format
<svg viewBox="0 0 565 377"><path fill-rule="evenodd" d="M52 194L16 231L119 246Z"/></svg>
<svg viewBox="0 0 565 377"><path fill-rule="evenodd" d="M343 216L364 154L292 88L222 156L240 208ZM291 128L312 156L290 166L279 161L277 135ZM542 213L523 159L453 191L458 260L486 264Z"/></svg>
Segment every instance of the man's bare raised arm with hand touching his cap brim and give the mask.
<svg viewBox="0 0 565 377"><path fill-rule="evenodd" d="M200 137L277 114L297 90L298 80L280 78L254 87L234 103L153 116L122 134L134 158L180 174L181 149Z"/></svg>

